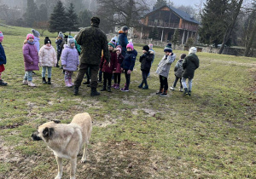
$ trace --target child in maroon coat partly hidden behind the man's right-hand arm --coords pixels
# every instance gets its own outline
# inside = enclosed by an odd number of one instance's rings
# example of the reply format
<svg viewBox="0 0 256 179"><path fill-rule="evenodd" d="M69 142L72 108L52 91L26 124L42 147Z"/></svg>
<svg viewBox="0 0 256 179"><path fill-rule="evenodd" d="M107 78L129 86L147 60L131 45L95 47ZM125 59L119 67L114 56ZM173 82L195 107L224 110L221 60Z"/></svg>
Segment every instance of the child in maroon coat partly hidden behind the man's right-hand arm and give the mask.
<svg viewBox="0 0 256 179"><path fill-rule="evenodd" d="M101 91L107 90L107 81L108 81L108 92L111 92L111 81L113 72L116 71L117 66L117 54L114 51L114 44L112 42L108 43L108 50L110 53L110 66L109 63L105 60L105 57L102 56L102 61L100 64L100 69L103 72L103 87Z"/></svg>

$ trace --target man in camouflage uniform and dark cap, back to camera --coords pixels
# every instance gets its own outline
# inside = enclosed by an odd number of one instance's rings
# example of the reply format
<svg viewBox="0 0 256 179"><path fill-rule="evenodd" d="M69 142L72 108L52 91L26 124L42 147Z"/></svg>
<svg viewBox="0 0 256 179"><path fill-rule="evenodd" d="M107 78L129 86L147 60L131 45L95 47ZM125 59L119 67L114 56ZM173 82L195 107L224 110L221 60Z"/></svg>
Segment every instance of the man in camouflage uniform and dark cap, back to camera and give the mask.
<svg viewBox="0 0 256 179"><path fill-rule="evenodd" d="M88 67L90 67L91 74L91 96L100 95L96 91L97 88L97 73L103 55L109 62L109 52L108 52L108 40L106 34L99 28L100 19L98 17L93 17L90 20L90 27L82 29L76 41L81 45L81 60L79 65L79 73L74 82L74 95L78 95L79 87L83 81L84 74L87 72Z"/></svg>

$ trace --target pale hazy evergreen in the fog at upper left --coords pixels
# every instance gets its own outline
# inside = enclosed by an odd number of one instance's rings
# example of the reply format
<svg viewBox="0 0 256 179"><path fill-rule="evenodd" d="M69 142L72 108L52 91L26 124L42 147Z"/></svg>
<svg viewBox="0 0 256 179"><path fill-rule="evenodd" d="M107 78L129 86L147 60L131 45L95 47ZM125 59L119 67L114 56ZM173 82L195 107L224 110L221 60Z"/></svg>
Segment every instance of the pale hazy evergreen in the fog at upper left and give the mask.
<svg viewBox="0 0 256 179"><path fill-rule="evenodd" d="M26 26L33 26L34 22L38 20L38 7L34 0L27 0L26 13L24 14L24 19L26 21Z"/></svg>

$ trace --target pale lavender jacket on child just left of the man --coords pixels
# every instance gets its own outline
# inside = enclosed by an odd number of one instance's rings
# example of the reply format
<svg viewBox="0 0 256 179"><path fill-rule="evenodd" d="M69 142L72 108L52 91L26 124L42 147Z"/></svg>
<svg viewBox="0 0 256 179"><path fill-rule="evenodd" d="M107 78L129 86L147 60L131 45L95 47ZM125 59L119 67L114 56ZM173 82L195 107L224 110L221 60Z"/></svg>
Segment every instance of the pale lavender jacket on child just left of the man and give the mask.
<svg viewBox="0 0 256 179"><path fill-rule="evenodd" d="M64 70L74 72L79 66L79 52L76 48L70 48L67 44L64 45L64 49L61 53L61 65Z"/></svg>

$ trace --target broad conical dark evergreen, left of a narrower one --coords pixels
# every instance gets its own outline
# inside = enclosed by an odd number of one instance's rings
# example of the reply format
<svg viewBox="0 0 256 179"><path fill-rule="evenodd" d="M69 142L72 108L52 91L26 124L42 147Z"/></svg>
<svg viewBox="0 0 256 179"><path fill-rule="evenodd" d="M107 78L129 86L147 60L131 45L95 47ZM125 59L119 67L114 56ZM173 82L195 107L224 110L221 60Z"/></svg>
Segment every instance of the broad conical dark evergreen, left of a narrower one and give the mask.
<svg viewBox="0 0 256 179"><path fill-rule="evenodd" d="M67 13L61 1L58 1L49 17L49 32L67 32Z"/></svg>

